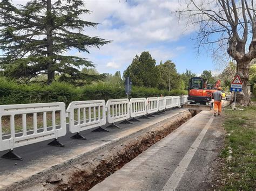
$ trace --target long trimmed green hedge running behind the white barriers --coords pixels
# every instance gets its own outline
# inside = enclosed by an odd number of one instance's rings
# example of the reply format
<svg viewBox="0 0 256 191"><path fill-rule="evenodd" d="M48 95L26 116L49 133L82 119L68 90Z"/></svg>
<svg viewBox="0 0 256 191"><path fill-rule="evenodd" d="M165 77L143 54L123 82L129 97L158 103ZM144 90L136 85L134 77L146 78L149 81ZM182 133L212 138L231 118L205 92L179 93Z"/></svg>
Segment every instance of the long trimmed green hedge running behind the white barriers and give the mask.
<svg viewBox="0 0 256 191"><path fill-rule="evenodd" d="M186 90L158 90L154 88L133 87L132 97L187 95ZM46 103L79 100L110 100L125 98L124 87L111 87L104 83L91 86L74 87L68 83L54 82L50 86L41 84L17 84L0 79L0 104Z"/></svg>

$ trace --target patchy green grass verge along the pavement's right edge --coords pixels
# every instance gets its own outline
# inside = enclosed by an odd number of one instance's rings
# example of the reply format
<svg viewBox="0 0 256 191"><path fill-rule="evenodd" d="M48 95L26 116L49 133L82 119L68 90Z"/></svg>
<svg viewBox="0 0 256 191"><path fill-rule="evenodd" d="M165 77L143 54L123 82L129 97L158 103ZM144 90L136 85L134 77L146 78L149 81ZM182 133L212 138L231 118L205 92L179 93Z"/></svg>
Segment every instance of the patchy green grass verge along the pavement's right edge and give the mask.
<svg viewBox="0 0 256 191"><path fill-rule="evenodd" d="M256 106L240 110L224 110L227 131L225 148L220 157L225 159L222 189L256 189ZM232 152L231 152L232 151ZM231 160L228 157L231 155Z"/></svg>

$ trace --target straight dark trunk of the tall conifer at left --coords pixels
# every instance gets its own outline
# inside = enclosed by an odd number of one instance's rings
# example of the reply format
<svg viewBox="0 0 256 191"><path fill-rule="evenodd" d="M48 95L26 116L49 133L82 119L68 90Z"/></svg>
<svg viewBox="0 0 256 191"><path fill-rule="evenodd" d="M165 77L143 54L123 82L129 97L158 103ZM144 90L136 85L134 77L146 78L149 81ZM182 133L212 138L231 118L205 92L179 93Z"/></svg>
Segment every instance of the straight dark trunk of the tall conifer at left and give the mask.
<svg viewBox="0 0 256 191"><path fill-rule="evenodd" d="M51 57L53 55L53 40L52 40L52 14L51 14L51 0L47 0L47 24L46 24L46 33L47 33L47 56ZM55 70L52 69L53 66L53 60L49 61L47 64L47 74L48 79L47 83L51 84L52 81L55 79Z"/></svg>

